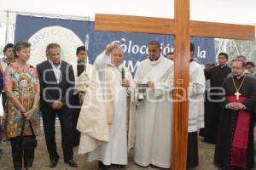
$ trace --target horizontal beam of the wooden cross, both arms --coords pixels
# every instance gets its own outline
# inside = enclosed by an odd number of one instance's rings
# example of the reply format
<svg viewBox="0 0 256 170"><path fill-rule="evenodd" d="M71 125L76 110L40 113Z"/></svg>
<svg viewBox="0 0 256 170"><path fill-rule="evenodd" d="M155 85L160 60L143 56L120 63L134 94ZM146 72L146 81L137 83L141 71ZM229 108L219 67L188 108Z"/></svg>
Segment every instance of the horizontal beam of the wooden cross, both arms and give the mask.
<svg viewBox="0 0 256 170"><path fill-rule="evenodd" d="M143 16L96 14L96 31L176 34L172 19ZM255 26L190 20L190 36L255 40Z"/></svg>

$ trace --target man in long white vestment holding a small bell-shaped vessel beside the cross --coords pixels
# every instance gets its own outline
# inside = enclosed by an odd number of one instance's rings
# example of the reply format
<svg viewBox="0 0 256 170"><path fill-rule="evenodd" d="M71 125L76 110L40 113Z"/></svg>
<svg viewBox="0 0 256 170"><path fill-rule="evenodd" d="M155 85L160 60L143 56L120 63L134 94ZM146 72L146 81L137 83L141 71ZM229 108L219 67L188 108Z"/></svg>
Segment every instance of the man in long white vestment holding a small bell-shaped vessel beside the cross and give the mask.
<svg viewBox="0 0 256 170"><path fill-rule="evenodd" d="M148 58L138 65L134 161L143 167L171 166L173 61L161 54L160 42L148 43Z"/></svg>

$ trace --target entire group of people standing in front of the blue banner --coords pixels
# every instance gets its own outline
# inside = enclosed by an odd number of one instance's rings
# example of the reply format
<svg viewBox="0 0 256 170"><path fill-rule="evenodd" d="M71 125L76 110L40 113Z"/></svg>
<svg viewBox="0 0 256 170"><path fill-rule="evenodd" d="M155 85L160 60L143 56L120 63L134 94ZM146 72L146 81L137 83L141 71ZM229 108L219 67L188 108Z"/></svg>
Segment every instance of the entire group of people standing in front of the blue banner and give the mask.
<svg viewBox="0 0 256 170"><path fill-rule="evenodd" d="M78 47L77 75L61 59L57 43L47 45L45 60L36 67L28 63L30 42L7 44L0 65L1 126L15 170L32 170L41 117L49 167L56 167L60 159L55 142L58 117L63 158L70 167L78 167L73 147L79 146L79 154L98 161L99 169L124 168L131 148L137 165L170 168L175 55L163 56L157 41L148 42L147 49L148 57L133 78L123 65L119 42L109 43L90 71L87 51ZM219 169L253 168L255 65L242 55L228 65L228 54L220 53L218 65L203 66L193 59L194 51L190 43L187 167L199 165L200 134L215 144L212 161Z"/></svg>

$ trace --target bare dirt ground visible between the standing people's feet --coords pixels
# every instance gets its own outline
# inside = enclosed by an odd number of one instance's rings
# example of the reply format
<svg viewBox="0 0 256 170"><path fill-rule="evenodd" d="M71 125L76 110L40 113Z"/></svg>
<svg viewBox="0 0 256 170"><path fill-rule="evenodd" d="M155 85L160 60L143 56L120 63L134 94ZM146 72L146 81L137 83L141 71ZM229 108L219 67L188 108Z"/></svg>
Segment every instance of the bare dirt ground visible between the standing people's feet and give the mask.
<svg viewBox="0 0 256 170"><path fill-rule="evenodd" d="M86 161L86 156L78 155L78 147L74 148L74 161L76 161L79 165L78 168L68 167L67 164L63 162L62 150L61 150L61 132L60 127L56 127L56 142L58 146L58 153L61 156L61 159L55 168L49 167L49 155L46 149L46 144L44 140L44 133L42 129L42 135L38 137L38 147L36 149L35 160L33 164L33 169L35 170L92 170L98 169L97 161ZM12 170L13 162L11 159L11 147L9 142L2 142L0 144L3 148L3 153L0 157L0 170ZM200 156L200 166L194 168L193 170L215 170L218 167L215 167L212 163L213 154L214 154L214 145L206 144L201 142L201 138L199 139L199 156ZM152 167L139 167L132 161L133 150L129 153L129 164L125 167L126 170L150 170L157 169ZM117 168L111 168L117 169Z"/></svg>

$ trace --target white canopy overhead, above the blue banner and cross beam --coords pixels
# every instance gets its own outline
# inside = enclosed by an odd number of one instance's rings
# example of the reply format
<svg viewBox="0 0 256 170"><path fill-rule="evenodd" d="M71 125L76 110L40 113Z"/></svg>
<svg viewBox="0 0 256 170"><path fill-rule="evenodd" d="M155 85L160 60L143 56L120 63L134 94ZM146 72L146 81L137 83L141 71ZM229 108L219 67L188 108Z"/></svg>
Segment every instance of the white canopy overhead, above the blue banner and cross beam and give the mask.
<svg viewBox="0 0 256 170"><path fill-rule="evenodd" d="M94 18L95 14L127 14L149 17L173 18L173 0L2 0L0 21L6 22L6 12L18 14L38 13L82 16ZM190 0L190 19L211 22L256 25L255 0ZM9 23L15 23L15 14L9 13Z"/></svg>

